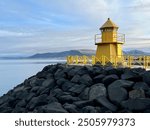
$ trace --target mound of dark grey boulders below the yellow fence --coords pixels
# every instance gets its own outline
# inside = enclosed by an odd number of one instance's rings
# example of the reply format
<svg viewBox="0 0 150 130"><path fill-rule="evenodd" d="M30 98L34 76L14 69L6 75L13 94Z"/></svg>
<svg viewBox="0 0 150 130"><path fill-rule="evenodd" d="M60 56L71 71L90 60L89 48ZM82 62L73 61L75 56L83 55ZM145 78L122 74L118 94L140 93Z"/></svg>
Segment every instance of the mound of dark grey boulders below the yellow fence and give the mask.
<svg viewBox="0 0 150 130"><path fill-rule="evenodd" d="M150 112L150 71L49 65L0 97L1 113Z"/></svg>

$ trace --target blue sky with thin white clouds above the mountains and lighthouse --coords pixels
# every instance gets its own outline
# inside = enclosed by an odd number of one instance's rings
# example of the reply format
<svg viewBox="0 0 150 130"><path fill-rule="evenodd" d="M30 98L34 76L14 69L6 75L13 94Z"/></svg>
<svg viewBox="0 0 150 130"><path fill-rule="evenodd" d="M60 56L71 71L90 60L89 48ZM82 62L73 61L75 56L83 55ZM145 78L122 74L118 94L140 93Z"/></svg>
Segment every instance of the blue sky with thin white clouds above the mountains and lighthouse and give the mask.
<svg viewBox="0 0 150 130"><path fill-rule="evenodd" d="M124 50L150 52L149 0L0 0L0 56L94 50L107 18L126 35Z"/></svg>

